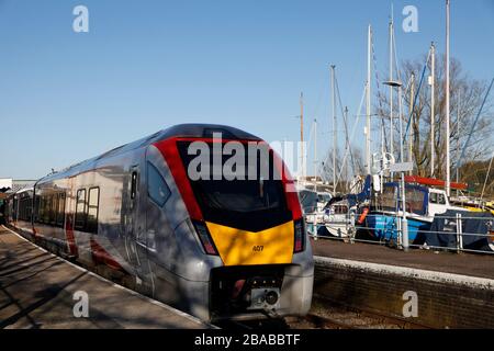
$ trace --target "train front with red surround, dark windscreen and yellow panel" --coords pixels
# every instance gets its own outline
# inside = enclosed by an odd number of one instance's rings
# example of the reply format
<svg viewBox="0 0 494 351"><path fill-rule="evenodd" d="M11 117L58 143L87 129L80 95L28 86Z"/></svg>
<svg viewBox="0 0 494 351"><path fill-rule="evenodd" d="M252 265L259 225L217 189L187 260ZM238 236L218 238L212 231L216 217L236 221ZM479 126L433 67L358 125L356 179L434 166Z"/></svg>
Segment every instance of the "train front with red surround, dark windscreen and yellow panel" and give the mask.
<svg viewBox="0 0 494 351"><path fill-rule="evenodd" d="M195 271L182 282L186 309L210 320L305 315L314 263L281 158L260 139L216 133L166 144L201 248L200 257L183 258Z"/></svg>

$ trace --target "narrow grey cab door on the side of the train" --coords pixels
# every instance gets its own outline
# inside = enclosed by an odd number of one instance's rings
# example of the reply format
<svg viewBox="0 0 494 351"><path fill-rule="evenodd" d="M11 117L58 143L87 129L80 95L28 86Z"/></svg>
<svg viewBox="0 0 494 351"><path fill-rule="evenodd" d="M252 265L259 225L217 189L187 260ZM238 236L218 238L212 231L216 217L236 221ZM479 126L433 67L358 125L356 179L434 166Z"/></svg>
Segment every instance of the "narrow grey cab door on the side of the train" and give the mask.
<svg viewBox="0 0 494 351"><path fill-rule="evenodd" d="M125 244L128 260L135 269L136 288L150 293L153 283L147 261L146 216L142 206L145 194L143 179L139 166L132 167L127 186Z"/></svg>

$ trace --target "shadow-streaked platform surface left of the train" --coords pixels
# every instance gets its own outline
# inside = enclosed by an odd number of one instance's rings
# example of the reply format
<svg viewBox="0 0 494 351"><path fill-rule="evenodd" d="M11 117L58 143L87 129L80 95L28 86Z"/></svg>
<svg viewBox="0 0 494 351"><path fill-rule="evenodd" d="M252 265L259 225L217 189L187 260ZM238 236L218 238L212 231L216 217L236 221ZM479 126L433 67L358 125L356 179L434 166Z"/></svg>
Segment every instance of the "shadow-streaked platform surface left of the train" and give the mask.
<svg viewBox="0 0 494 351"><path fill-rule="evenodd" d="M75 317L86 292L89 317ZM82 310L76 308L77 310ZM76 267L0 226L0 328L211 328Z"/></svg>

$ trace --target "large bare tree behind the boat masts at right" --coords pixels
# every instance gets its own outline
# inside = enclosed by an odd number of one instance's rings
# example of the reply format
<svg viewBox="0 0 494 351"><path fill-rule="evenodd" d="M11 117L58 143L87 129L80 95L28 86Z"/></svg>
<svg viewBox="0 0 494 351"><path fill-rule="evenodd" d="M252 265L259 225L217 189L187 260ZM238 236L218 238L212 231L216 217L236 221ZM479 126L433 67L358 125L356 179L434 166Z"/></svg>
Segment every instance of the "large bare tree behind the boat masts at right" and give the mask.
<svg viewBox="0 0 494 351"><path fill-rule="evenodd" d="M415 93L419 86L419 80L424 70L424 65L427 57L423 59L407 60L402 65L401 78L403 80L404 90L404 120L403 125L406 126L409 120L411 101L414 100L409 89L405 91L407 82L412 75L415 76ZM446 174L446 83L445 83L445 59L436 60L436 102L435 102L435 171L430 174L430 86L428 84L428 75L430 67L426 68L425 78L411 118L411 125L407 140L413 137L413 162L415 172L418 176L436 178L444 178ZM492 132L494 124L492 123L494 114L492 111L492 99L487 101L483 113L480 116L474 131L471 131L474 120L479 113L480 106L487 90L486 81L479 81L472 79L462 69L460 61L451 60L450 65L450 146L451 146L451 167L456 169L467 161L484 160L492 154ZM396 93L394 94L396 97ZM393 125L395 143L394 150L400 149L398 135L398 113L397 99L394 102L395 123ZM386 132L390 131L390 104L389 94L384 91L378 93L378 105L375 106L378 115L381 116L385 123ZM405 129L405 127L404 127ZM411 133L413 132L413 133ZM469 146L465 150L463 160L459 160L461 150L469 137L472 134ZM397 152L396 152L397 155ZM405 152L406 155L406 152ZM405 159L407 159L405 157ZM454 172L452 171L454 179ZM461 174L460 174L461 177ZM461 178L460 178L461 180Z"/></svg>

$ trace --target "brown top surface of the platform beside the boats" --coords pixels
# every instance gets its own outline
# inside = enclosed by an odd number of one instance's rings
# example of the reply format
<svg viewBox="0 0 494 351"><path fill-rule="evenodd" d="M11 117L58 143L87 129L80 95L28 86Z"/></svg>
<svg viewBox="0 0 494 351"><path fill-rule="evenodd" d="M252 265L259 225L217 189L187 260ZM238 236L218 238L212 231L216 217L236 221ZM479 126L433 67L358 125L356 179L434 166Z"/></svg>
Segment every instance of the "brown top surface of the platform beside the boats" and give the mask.
<svg viewBox="0 0 494 351"><path fill-rule="evenodd" d="M428 271L494 279L494 254L435 252L411 249L408 252L373 244L347 244L311 239L314 256L362 262L400 265Z"/></svg>

